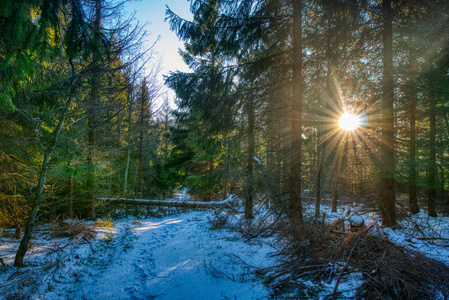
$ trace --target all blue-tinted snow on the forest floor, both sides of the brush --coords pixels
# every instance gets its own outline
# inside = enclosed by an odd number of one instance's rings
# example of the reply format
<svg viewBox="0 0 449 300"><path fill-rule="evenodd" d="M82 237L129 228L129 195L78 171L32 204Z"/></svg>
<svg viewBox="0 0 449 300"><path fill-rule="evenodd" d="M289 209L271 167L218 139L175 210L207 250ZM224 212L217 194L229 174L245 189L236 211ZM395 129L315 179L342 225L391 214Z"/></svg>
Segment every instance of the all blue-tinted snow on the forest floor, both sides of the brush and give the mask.
<svg viewBox="0 0 449 300"><path fill-rule="evenodd" d="M183 190L176 203L194 202ZM229 196L214 205L239 203ZM240 203L241 204L241 203ZM214 205L209 206L213 208ZM225 207L226 207L225 205ZM259 210L261 219L267 211ZM313 213L314 205L305 212ZM379 224L377 214L364 213L361 206L339 207L330 212L322 206L326 222L360 218L367 226ZM47 225L37 228L32 249L25 257L26 267L12 267L19 241L0 238L0 300L30 299L269 299L270 291L256 278L254 267L269 267L274 238L247 240L241 233L227 229L213 230L210 220L227 217L241 221L225 209L190 211L163 218L127 217L112 222L86 222L95 230L95 238L55 237ZM360 220L359 220L360 221ZM70 220L68 224L79 223ZM109 224L111 225L111 224ZM347 224L349 225L349 224ZM218 226L219 227L219 226ZM429 218L425 212L402 219L397 229L377 230L390 240L449 265L449 218ZM5 233L5 232L4 232ZM344 262L336 264L342 267ZM362 282L353 272L343 276L338 285L340 296L352 299ZM23 286L19 286L22 285ZM335 278L319 284L304 282L315 296L329 295ZM294 295L292 294L292 297Z"/></svg>

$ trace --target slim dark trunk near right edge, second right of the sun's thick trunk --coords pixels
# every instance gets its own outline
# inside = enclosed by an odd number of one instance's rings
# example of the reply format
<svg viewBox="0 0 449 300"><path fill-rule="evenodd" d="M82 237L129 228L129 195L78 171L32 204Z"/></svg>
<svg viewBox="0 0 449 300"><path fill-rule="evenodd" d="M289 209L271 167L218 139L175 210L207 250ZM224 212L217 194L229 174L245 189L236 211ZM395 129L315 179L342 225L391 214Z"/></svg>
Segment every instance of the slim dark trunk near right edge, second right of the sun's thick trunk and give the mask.
<svg viewBox="0 0 449 300"><path fill-rule="evenodd" d="M429 132L429 166L428 166L428 191L427 209L430 217L436 217L435 201L437 197L437 161L436 161L436 100L430 99L430 132Z"/></svg>

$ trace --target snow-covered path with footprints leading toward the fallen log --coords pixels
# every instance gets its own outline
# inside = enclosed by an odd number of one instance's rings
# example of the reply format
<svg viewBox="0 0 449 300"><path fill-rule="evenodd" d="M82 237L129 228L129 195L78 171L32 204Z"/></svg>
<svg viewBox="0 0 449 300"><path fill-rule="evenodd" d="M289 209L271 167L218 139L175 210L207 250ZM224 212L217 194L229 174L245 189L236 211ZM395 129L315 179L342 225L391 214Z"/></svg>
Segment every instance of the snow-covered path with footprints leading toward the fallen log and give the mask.
<svg viewBox="0 0 449 300"><path fill-rule="evenodd" d="M266 266L270 247L244 243L237 233L209 230L205 214L143 220L132 223L132 230L122 227L128 235L124 244L94 259L97 271L81 276L67 291L70 298L266 299L267 291L247 274L242 260ZM109 265L102 266L98 261L107 257L112 258Z"/></svg>

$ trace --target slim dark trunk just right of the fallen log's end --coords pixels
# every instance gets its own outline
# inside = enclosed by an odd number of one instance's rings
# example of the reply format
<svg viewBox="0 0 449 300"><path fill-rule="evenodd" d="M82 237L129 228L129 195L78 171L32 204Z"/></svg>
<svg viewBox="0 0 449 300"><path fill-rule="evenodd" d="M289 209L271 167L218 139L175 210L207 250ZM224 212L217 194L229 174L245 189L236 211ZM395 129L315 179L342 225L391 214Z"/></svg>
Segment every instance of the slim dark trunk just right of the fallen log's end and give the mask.
<svg viewBox="0 0 449 300"><path fill-rule="evenodd" d="M254 202L254 155L255 155L255 137L254 137L254 99L250 94L247 99L246 113L248 116L248 165L247 165L247 198L245 202L245 219L253 218Z"/></svg>

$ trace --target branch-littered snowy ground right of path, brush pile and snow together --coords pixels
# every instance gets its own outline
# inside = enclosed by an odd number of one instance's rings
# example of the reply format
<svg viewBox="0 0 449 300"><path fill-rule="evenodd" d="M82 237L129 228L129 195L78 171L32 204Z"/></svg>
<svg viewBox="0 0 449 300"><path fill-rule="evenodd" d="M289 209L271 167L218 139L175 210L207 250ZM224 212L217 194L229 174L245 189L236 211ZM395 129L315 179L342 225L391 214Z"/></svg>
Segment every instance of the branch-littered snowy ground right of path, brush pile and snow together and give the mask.
<svg viewBox="0 0 449 300"><path fill-rule="evenodd" d="M449 218L421 212L393 230L366 215L350 231L343 213L329 217L278 229L276 264L258 271L273 298L447 299Z"/></svg>

